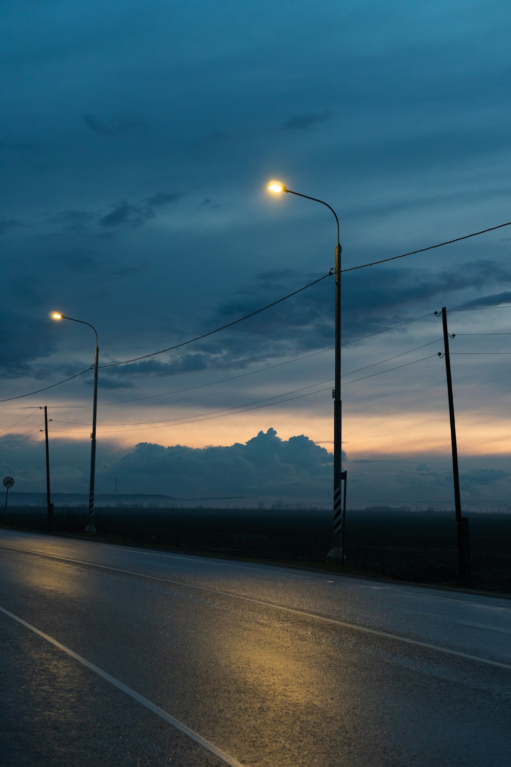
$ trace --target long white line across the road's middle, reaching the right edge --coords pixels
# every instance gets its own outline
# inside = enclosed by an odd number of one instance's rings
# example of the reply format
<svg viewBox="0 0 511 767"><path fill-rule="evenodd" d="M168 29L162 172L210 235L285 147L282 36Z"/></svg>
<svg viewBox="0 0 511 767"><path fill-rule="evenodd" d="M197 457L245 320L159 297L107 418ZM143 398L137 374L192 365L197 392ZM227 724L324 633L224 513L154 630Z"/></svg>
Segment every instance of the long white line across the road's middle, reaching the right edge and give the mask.
<svg viewBox="0 0 511 767"><path fill-rule="evenodd" d="M2 548L11 548L0 544ZM400 637L398 634L390 634L388 631L381 631L375 628L369 628L365 626L357 626L356 624L350 624L346 621L339 621L337 618L329 618L323 615L316 615L314 613L307 613L303 610L296 610L294 607L283 607L281 604L274 604L273 602L265 602L261 599L253 599L252 597L241 597L238 594L231 594L229 591L220 591L215 588L208 588L207 586L197 586L191 583L185 583L185 581L173 581L170 578L159 578L157 575L146 575L145 573L138 573L133 570L124 570L123 568L113 568L110 565L97 565L95 562L87 562L81 559L73 559L70 557L57 556L54 554L43 554L41 551L30 551L27 548L16 548L15 551L22 551L24 554L34 554L40 557L47 557L49 559L58 559L64 562L74 562L75 565L86 565L87 567L100 568L101 570L109 570L113 572L123 573L125 575L134 575L136 578L146 578L148 581L159 581L160 583L171 584L172 586L182 586L183 588L192 588L195 591L206 591L209 594L220 594L222 597L229 597L230 599L237 599L239 601L248 602L249 604L258 604L262 607L273 607L274 610L280 610L293 615L299 615L300 617L313 618L315 621L321 621L326 624L334 626L341 626L342 628L352 629L355 631L361 631L362 634L373 634L375 637L383 637L384 639L391 639L398 642L404 642L405 644L411 644L414 647L424 647L427 650L435 650L439 653L446 653L447 655L454 655L456 657L464 658L465 660L475 660L477 663L486 663L489 666L496 666L498 668L507 669L511 671L511 664L500 663L498 660L490 660L489 658L482 658L478 655L470 655L470 653L462 653L460 650L450 650L448 647L440 647L437 644L430 644L429 642L420 642L417 639L409 639L408 637ZM0 608L2 609L2 608Z"/></svg>

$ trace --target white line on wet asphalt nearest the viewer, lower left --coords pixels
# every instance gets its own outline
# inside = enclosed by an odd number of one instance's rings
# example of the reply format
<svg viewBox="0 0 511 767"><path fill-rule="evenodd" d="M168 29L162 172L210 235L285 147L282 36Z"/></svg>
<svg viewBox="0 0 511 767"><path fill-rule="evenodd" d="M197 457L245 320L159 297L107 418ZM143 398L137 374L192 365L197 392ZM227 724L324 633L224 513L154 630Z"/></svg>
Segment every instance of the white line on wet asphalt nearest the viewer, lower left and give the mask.
<svg viewBox="0 0 511 767"><path fill-rule="evenodd" d="M106 671L103 671L103 669L100 669L100 667L96 666L94 663L90 663L90 660L87 660L81 655L78 655L78 653L75 653L74 650L70 650L70 648L66 647L65 644L61 644L61 642L58 642L53 637L48 636L48 634L44 634L44 631L41 631L35 626L32 626L32 624L27 623L27 621L24 621L23 618L18 617L18 615L5 610L5 607L0 607L0 612L12 618L13 621L18 621L21 626L25 626L26 628L33 631L34 634L38 634L39 637L42 637L47 642L50 642L54 645L54 647L57 647L59 650L63 650L64 653L67 653L67 655L70 655L70 657L74 658L74 660L77 660L78 663L81 663L83 666L86 666L94 673L97 673L98 676L101 676L104 680L110 682L110 684L112 684L118 690L122 690L123 693L126 693L126 695L129 695L130 698L136 700L137 703L141 703L142 706L146 706L146 709L149 709L149 711L151 711L153 714L156 714L156 716L159 716L165 722L172 725L172 727L178 729L179 732L182 732L183 735L188 736L188 738L198 743L198 745L202 746L202 748L206 749L206 751L209 751L211 754L218 756L218 759L221 759L222 762L225 762L225 764L229 765L229 767L244 767L241 762L238 762L237 759L234 759L233 756L230 756L221 749L218 749L214 743L211 743L210 741L203 738L198 734L198 732L195 732L194 729L190 729L182 722L179 722L179 719L175 719L173 716L170 716L170 714L168 714L166 711L160 709L159 706L155 706L155 704L151 703L150 700L147 700L147 698L144 698L142 695L139 695L139 693L136 693L135 690L131 689L131 687L123 684L114 676L110 676L109 673L106 673Z"/></svg>

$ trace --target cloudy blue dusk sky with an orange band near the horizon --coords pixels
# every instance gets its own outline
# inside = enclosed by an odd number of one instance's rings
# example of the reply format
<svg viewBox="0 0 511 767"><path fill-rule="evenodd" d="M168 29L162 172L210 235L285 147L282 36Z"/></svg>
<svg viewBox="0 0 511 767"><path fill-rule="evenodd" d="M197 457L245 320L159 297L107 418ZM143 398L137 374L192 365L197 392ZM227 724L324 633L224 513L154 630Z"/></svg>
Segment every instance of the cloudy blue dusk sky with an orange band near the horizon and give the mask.
<svg viewBox="0 0 511 767"><path fill-rule="evenodd" d="M369 265L511 219L509 3L0 15L15 490L44 492L45 405L52 489L88 490L95 337L57 310L98 334L97 492L328 507L336 224L280 179L339 217L348 506L453 505L444 306L462 502L509 510L511 227Z"/></svg>

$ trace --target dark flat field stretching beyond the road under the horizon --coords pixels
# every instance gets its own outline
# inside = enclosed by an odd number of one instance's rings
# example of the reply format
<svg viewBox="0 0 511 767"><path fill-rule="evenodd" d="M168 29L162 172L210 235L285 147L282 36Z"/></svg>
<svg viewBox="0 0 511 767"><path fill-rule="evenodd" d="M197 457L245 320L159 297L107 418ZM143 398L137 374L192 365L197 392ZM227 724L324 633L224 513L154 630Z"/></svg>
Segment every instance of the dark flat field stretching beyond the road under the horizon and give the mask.
<svg viewBox="0 0 511 767"><path fill-rule="evenodd" d="M511 515L467 513L470 586L511 594ZM47 529L46 509L8 509L2 522ZM303 509L97 509L97 538L123 545L326 565L332 542L329 512ZM55 509L53 531L89 537L86 509ZM344 571L429 584L457 584L454 512L346 512Z"/></svg>

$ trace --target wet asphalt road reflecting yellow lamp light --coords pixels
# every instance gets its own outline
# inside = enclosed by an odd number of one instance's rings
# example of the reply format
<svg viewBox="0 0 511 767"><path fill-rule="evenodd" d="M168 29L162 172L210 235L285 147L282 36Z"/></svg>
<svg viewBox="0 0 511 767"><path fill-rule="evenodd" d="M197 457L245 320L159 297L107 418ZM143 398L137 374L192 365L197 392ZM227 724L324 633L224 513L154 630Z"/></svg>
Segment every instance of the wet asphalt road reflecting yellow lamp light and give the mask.
<svg viewBox="0 0 511 767"><path fill-rule="evenodd" d="M0 763L496 767L511 601L0 531Z"/></svg>

